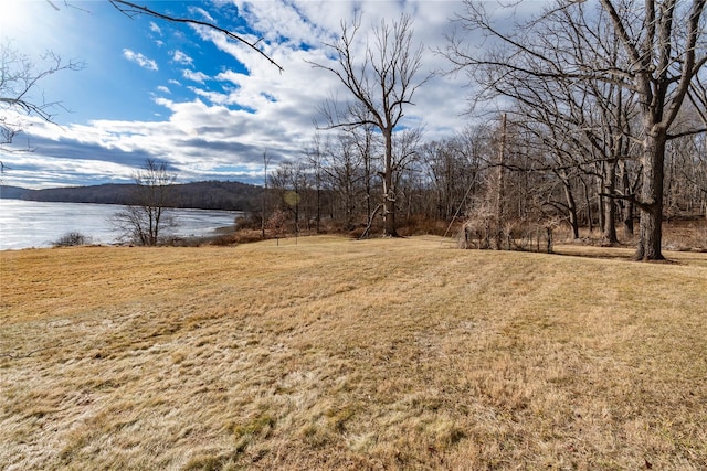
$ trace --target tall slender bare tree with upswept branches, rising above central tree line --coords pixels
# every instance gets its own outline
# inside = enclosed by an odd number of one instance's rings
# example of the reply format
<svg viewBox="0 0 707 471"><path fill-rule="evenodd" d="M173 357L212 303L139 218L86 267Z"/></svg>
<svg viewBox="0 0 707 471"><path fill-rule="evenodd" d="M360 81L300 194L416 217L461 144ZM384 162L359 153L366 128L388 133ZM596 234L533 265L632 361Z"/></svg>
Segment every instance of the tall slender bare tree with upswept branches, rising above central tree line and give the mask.
<svg viewBox="0 0 707 471"><path fill-rule="evenodd" d="M428 79L415 79L422 66L422 46L413 49L412 20L404 14L392 25L381 21L373 30L373 45L367 47L363 57L355 56L360 17L350 26L342 23L341 30L341 39L328 44L337 56L337 65L313 63L334 74L351 94L351 100L344 107L334 100L323 106L326 128L351 130L373 126L380 130L384 142L383 231L384 235L397 236L393 132L405 107L413 105L415 92Z"/></svg>

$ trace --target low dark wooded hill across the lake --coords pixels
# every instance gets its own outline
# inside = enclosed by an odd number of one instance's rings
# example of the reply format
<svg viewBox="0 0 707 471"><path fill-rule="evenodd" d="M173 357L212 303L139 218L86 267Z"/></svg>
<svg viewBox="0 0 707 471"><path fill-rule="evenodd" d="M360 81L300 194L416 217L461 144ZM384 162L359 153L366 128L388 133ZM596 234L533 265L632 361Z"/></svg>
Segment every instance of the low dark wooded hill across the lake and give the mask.
<svg viewBox="0 0 707 471"><path fill-rule="evenodd" d="M262 188L241 182L208 181L171 185L173 207L199 210L253 211L260 207ZM0 196L14 200L134 204L135 185L102 184L43 190L0 188Z"/></svg>

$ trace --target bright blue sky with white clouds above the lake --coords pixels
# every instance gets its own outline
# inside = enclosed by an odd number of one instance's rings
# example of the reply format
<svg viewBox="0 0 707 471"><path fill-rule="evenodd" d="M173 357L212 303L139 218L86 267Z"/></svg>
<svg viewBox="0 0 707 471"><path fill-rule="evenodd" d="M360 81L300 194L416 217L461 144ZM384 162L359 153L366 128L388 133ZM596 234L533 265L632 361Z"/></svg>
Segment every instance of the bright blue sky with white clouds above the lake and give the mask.
<svg viewBox="0 0 707 471"><path fill-rule="evenodd" d="M128 183L146 159L165 161L178 182L262 184L271 169L299 159L324 122L320 106L347 99L327 43L341 22L361 17L361 43L381 20L413 20L423 46L419 78L449 68L443 47L461 1L213 0L138 1L154 10L219 24L251 41L283 67L218 32L149 17L128 18L106 0L12 0L3 3L0 40L38 69L51 51L83 64L45 77L35 103L60 101L53 124L23 117L6 146L3 184L31 189ZM538 2L540 6L541 2ZM425 140L463 130L469 117L463 74L439 74L414 96L401 127ZM319 131L323 135L334 131ZM31 152L17 151L31 148ZM13 152L7 152L14 149Z"/></svg>

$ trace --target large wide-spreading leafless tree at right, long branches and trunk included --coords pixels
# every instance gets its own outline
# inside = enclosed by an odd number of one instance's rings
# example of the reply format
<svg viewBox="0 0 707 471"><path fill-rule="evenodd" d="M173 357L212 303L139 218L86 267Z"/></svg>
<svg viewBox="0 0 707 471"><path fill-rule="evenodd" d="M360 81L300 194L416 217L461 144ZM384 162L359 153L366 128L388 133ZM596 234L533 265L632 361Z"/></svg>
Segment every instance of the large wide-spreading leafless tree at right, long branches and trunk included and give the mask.
<svg viewBox="0 0 707 471"><path fill-rule="evenodd" d="M627 158L630 142L641 142L637 192L609 185L603 195L640 208L636 258L663 258L666 143L705 131L674 127L688 93L699 104L695 84L707 62L705 1L601 0L597 7L557 1L513 31L496 23L483 2L464 4L461 31L485 35L485 52L457 34L449 38L444 54L454 71L466 72L481 87L477 100L509 98L515 111L563 141L555 150L572 144L583 159L602 162L608 182ZM608 211L612 207L608 203Z"/></svg>

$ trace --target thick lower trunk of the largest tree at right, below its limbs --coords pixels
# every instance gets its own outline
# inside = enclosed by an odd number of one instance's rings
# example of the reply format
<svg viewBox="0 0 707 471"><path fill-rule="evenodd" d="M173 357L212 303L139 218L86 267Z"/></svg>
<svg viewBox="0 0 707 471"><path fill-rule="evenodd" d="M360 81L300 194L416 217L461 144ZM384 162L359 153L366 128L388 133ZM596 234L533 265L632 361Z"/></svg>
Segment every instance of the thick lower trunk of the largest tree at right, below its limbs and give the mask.
<svg viewBox="0 0 707 471"><path fill-rule="evenodd" d="M664 260L663 184L665 172L665 131L651 131L643 144L643 182L641 188L641 228L636 260Z"/></svg>

